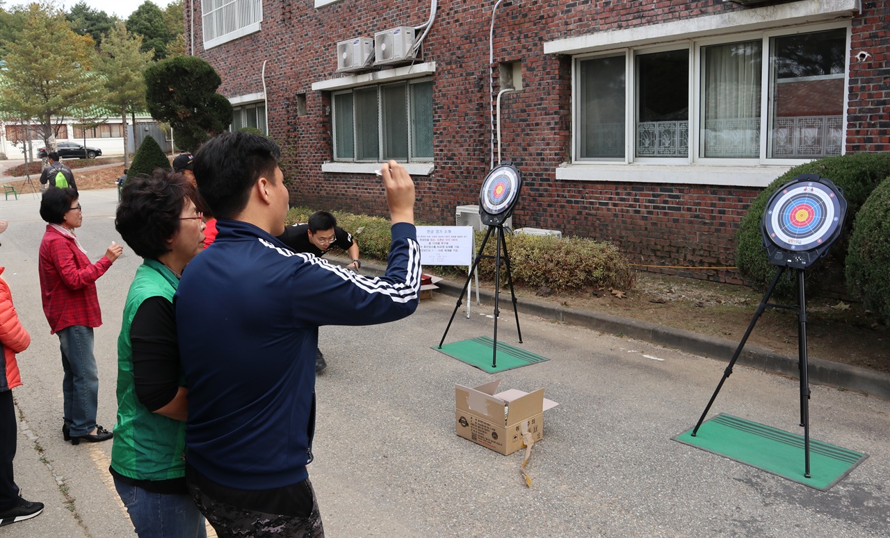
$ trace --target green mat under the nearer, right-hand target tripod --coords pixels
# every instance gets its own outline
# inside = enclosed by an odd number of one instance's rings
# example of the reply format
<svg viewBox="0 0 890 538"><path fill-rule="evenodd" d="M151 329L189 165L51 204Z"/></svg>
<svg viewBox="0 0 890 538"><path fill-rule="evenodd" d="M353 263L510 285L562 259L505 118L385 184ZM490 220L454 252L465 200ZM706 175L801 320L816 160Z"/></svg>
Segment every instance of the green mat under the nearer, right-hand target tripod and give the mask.
<svg viewBox="0 0 890 538"><path fill-rule="evenodd" d="M731 414L718 414L703 422L694 438L691 429L674 440L821 491L828 491L869 457L811 438L810 478L806 478L804 436Z"/></svg>

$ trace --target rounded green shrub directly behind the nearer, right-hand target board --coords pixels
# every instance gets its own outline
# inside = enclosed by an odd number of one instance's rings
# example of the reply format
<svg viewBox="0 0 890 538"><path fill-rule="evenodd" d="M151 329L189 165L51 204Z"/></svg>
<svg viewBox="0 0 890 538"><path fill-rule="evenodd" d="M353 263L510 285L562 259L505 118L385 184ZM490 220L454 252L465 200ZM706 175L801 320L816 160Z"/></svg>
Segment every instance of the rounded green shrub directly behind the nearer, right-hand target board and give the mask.
<svg viewBox="0 0 890 538"><path fill-rule="evenodd" d="M847 203L846 220L841 236L831 246L829 254L821 259L813 269L807 269L808 294L817 294L820 290L844 281L844 261L846 245L856 213L871 191L878 186L887 175L890 175L890 154L886 153L854 153L838 157L825 157L812 163L795 166L787 173L779 176L758 195L748 213L739 223L736 233L735 264L740 273L747 277L755 287L764 290L773 279L777 267L770 264L766 257L760 222L763 221L766 202L785 183L802 173L818 173L823 178L833 181L844 191ZM797 296L792 280L782 278L775 292L781 297Z"/></svg>

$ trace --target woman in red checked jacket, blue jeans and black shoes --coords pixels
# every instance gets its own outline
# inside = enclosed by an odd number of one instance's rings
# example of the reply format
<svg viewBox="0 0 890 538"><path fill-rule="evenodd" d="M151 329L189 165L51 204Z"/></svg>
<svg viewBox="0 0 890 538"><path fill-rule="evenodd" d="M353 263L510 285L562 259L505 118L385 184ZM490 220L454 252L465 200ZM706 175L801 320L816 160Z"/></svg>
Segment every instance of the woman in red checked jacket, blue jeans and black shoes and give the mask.
<svg viewBox="0 0 890 538"><path fill-rule="evenodd" d="M93 356L93 328L102 325L96 280L124 248L112 242L99 261L90 262L74 232L84 221L75 189L44 192L40 216L48 223L40 242L40 292L50 333L59 335L65 370L61 433L72 445L82 440L107 441L111 432L96 424L99 371Z"/></svg>

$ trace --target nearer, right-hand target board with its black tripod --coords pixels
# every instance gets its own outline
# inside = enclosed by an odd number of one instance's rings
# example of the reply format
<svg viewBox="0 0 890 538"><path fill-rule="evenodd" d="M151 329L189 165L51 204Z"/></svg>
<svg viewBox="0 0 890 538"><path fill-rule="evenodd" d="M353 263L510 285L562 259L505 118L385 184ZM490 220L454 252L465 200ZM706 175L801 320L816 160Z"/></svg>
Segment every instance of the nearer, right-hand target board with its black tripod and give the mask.
<svg viewBox="0 0 890 538"><path fill-rule="evenodd" d="M804 476L810 478L810 384L806 359L804 273L806 268L826 255L831 244L840 237L845 213L846 201L841 190L818 174L801 174L782 185L770 197L766 204L764 220L761 222L761 232L770 263L779 268L776 269L772 282L766 288L764 298L757 306L754 318L742 336L739 347L732 354L732 359L708 401L708 406L701 414L699 422L695 424L692 437L698 433L701 423L714 404L717 393L732 374L732 366L741 355L741 350L745 347L751 331L754 330L757 319L767 308L795 310L797 311L797 370L800 379L800 426L804 428ZM789 277L792 273L797 274L796 307L769 302L773 290L786 270L789 271Z"/></svg>

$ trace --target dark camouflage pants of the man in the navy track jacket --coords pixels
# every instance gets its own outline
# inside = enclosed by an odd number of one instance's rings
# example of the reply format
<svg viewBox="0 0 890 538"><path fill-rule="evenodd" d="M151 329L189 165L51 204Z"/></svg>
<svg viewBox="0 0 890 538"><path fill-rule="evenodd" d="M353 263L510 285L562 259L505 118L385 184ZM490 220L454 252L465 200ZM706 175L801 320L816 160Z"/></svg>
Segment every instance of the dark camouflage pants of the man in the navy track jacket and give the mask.
<svg viewBox="0 0 890 538"><path fill-rule="evenodd" d="M315 499L312 484L307 478L306 486L312 491L312 513L308 518L281 516L256 510L239 508L228 502L217 501L201 492L196 484L189 484L192 500L198 509L214 527L220 538L251 537L251 538L324 538L325 530L321 526L319 504Z"/></svg>

